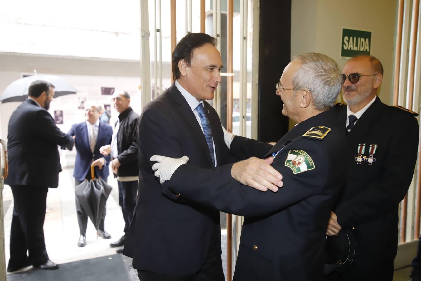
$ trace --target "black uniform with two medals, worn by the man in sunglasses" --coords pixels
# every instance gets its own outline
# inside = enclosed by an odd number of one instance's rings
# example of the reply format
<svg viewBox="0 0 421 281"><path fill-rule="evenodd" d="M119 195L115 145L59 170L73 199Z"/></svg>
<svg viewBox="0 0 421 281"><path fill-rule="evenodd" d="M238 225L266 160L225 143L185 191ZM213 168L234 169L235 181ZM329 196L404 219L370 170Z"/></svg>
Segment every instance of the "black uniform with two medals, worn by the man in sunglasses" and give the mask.
<svg viewBox="0 0 421 281"><path fill-rule="evenodd" d="M346 106L336 107L346 126ZM405 110L383 104L377 97L347 135L348 167L344 192L333 211L343 228L354 229L356 252L352 267L344 273L370 280L392 280L398 243L398 204L411 183L417 158L418 123ZM369 165L355 161L358 145L378 145ZM371 272L372 275L368 275ZM382 274L385 274L384 276ZM373 278L370 278L373 277ZM346 279L348 280L348 279Z"/></svg>

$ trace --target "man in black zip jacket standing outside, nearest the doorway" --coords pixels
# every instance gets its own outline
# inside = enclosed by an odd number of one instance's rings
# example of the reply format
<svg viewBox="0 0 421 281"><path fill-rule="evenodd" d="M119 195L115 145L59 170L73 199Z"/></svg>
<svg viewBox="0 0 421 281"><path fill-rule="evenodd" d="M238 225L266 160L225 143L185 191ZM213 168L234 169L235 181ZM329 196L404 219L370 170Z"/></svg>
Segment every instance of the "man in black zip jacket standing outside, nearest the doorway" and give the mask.
<svg viewBox="0 0 421 281"><path fill-rule="evenodd" d="M123 212L125 234L110 246L120 247L124 245L136 205L137 180L139 179L136 127L139 115L130 107L130 95L126 91L115 91L112 101L115 110L120 115L115 123L111 145L101 147L100 151L103 155L111 153L111 169L117 176L118 199ZM117 249L117 252L123 252L123 249Z"/></svg>

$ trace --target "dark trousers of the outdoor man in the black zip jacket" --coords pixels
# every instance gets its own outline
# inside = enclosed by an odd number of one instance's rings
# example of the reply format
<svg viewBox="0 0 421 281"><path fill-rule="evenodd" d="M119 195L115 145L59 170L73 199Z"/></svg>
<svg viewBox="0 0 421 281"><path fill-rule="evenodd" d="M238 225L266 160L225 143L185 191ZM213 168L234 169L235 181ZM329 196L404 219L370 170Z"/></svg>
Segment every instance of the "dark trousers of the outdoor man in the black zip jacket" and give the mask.
<svg viewBox="0 0 421 281"><path fill-rule="evenodd" d="M136 206L137 180L134 182L118 183L118 203L121 206L124 218L124 233L127 234L131 219L133 218L133 210Z"/></svg>

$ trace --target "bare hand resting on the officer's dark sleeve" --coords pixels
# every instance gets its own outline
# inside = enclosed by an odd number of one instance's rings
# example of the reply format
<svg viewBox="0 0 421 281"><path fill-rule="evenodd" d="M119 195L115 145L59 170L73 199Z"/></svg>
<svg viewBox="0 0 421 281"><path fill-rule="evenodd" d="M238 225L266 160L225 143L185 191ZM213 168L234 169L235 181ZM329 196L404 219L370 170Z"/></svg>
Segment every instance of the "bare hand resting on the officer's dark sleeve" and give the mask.
<svg viewBox="0 0 421 281"><path fill-rule="evenodd" d="M259 159L256 157L234 163L231 176L243 185L249 185L261 191L268 189L276 192L282 187L282 175L270 164L272 157Z"/></svg>

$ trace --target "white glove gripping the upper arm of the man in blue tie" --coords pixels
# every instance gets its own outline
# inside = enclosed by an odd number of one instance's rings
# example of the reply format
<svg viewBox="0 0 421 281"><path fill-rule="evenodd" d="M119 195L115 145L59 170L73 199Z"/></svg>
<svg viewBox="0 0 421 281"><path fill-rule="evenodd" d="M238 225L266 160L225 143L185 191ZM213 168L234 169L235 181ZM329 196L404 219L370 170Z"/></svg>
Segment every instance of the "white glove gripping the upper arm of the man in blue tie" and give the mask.
<svg viewBox="0 0 421 281"><path fill-rule="evenodd" d="M163 184L170 180L173 173L179 166L186 164L189 161L187 156L181 158L171 158L166 156L154 155L151 157L151 162L158 162L152 166L155 171L155 177L159 177L159 182Z"/></svg>

